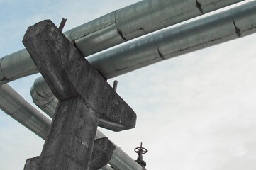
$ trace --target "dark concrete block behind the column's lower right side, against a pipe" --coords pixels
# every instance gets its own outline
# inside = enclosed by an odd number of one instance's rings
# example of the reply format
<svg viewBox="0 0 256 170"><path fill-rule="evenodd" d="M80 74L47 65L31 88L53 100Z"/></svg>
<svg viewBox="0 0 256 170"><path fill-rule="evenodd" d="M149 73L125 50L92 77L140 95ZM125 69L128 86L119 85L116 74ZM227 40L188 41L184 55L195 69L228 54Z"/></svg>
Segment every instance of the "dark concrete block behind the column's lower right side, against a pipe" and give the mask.
<svg viewBox="0 0 256 170"><path fill-rule="evenodd" d="M95 140L89 170L97 170L108 164L114 149L116 147L107 137Z"/></svg>

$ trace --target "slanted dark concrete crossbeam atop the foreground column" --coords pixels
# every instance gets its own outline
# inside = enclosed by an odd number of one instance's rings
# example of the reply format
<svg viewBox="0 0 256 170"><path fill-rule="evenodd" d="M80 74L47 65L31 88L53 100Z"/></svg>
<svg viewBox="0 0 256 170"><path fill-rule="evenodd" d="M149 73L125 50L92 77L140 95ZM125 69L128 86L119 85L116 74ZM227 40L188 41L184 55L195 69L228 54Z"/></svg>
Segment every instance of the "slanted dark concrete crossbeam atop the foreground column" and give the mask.
<svg viewBox="0 0 256 170"><path fill-rule="evenodd" d="M28 28L23 44L60 101L80 95L100 115L101 127L114 131L135 127L133 109L51 21Z"/></svg>

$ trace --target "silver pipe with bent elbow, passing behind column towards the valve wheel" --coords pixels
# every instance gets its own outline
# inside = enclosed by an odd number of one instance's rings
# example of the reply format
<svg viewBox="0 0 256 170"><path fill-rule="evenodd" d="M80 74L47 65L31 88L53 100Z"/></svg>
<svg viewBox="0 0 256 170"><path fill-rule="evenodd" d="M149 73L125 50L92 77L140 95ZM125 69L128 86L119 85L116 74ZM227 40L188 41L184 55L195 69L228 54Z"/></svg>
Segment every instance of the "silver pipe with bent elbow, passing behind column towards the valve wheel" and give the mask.
<svg viewBox="0 0 256 170"><path fill-rule="evenodd" d="M31 87L30 94L33 98L33 102L52 118L55 113L58 100L55 98L55 96L53 96L52 91L50 91L50 88L48 84L46 84L43 77L35 79L35 84L33 84ZM101 131L97 130L96 139L101 137L106 136ZM123 152L118 146L116 146L113 156L108 164L113 166L113 168L116 170L142 170L142 167L131 159L128 154Z"/></svg>

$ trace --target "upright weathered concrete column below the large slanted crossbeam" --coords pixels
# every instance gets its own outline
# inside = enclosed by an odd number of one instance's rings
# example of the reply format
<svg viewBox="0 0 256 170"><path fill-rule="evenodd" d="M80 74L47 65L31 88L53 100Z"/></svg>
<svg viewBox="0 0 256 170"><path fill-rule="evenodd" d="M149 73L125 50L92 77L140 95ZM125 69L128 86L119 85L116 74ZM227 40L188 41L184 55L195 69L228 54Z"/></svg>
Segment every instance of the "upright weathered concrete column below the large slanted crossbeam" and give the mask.
<svg viewBox="0 0 256 170"><path fill-rule="evenodd" d="M60 101L38 170L89 169L98 120L80 97Z"/></svg>

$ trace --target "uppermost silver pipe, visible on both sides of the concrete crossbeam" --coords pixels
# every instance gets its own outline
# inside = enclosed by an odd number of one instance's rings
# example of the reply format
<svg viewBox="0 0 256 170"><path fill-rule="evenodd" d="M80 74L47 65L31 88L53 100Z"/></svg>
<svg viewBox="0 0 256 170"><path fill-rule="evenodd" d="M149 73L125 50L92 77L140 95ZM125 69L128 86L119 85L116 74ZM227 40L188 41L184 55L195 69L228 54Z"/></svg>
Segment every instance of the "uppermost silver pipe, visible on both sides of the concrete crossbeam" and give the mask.
<svg viewBox="0 0 256 170"><path fill-rule="evenodd" d="M155 30L243 0L147 0L121 8L64 34L88 56ZM0 58L0 84L35 74L26 49Z"/></svg>

